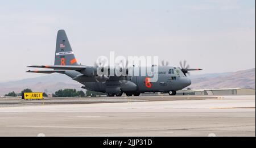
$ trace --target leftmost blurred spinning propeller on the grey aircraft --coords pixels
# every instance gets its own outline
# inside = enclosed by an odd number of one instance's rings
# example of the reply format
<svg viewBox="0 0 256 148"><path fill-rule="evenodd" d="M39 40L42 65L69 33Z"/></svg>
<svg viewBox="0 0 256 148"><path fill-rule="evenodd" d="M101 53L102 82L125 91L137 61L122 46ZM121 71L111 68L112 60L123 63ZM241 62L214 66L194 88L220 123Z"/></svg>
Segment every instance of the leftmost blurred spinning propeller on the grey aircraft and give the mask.
<svg viewBox="0 0 256 148"><path fill-rule="evenodd" d="M95 75L94 78L96 79L97 82L106 82L110 78L109 75L106 73L106 71L104 71L104 68L107 66L106 62L107 62L106 59L99 58L94 63L94 67L97 68L97 71L101 71L101 73L103 73L101 75L98 75L98 73Z"/></svg>

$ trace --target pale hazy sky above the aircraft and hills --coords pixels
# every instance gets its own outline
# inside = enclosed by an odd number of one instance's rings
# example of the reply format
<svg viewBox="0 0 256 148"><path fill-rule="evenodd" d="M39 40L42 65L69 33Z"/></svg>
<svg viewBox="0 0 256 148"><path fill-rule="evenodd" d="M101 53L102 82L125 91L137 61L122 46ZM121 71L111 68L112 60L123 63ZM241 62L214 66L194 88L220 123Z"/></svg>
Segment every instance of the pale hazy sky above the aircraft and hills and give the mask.
<svg viewBox="0 0 256 148"><path fill-rule="evenodd" d="M37 77L26 66L53 64L58 29L84 65L113 50L173 66L185 59L200 73L255 67L253 0L1 1L0 81Z"/></svg>

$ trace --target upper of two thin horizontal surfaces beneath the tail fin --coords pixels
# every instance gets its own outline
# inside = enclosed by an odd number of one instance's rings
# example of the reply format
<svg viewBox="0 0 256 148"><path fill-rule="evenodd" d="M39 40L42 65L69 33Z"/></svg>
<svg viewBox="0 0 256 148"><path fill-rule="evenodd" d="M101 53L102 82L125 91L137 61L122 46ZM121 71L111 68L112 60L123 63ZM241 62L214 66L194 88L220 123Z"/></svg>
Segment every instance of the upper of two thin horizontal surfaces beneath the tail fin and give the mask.
<svg viewBox="0 0 256 148"><path fill-rule="evenodd" d="M44 68L44 69L61 69L61 70L83 70L86 66L70 66L70 65L32 65L27 67Z"/></svg>

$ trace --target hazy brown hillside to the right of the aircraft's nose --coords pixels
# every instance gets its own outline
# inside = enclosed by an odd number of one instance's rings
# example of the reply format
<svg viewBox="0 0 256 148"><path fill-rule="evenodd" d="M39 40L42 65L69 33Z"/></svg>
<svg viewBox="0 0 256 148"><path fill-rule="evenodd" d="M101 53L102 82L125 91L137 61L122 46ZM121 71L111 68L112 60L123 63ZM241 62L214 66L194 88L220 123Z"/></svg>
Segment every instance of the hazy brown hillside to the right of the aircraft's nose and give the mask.
<svg viewBox="0 0 256 148"><path fill-rule="evenodd" d="M215 77L214 77L215 76ZM191 77L189 88L254 88L255 69L240 70L234 73L203 74Z"/></svg>

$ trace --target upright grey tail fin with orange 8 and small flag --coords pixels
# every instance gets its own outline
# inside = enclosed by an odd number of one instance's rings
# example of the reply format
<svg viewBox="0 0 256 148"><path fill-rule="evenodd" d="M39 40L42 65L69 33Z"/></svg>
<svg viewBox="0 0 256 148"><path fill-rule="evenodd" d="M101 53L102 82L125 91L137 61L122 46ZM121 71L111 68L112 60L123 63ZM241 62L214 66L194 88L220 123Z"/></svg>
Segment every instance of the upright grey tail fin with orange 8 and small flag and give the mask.
<svg viewBox="0 0 256 148"><path fill-rule="evenodd" d="M78 65L64 30L57 33L54 65Z"/></svg>

